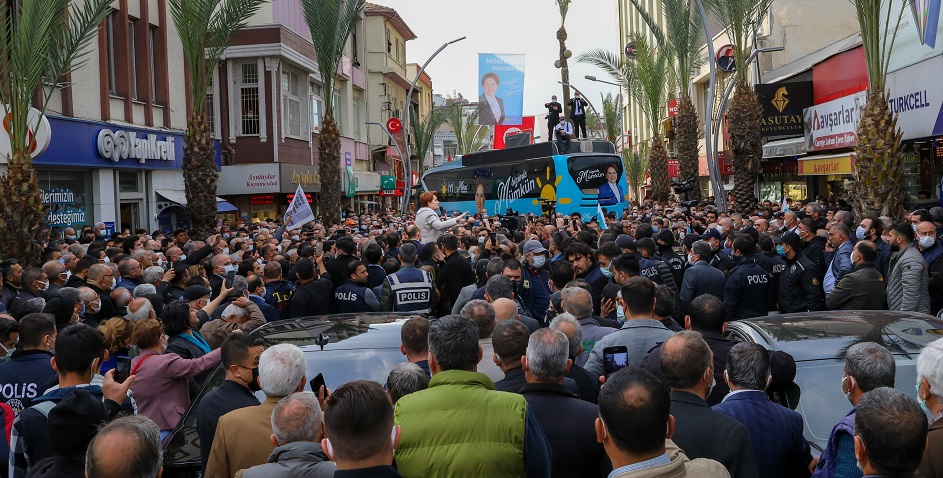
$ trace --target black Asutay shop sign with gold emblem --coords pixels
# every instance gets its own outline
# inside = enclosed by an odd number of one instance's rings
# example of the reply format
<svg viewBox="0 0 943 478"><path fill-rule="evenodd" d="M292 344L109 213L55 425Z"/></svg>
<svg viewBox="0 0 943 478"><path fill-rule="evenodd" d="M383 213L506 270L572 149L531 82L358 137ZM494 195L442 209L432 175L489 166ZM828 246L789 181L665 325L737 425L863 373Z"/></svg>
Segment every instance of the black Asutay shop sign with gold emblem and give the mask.
<svg viewBox="0 0 943 478"><path fill-rule="evenodd" d="M763 107L764 138L804 134L802 110L812 106L811 81L756 85L756 96Z"/></svg>

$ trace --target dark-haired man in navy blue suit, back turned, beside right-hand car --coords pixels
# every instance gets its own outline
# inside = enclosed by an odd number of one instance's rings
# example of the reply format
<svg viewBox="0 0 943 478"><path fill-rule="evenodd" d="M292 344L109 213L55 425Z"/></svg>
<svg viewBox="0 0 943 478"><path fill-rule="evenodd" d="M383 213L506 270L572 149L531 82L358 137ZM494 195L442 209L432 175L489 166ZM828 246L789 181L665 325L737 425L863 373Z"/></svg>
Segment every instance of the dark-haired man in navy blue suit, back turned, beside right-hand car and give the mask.
<svg viewBox="0 0 943 478"><path fill-rule="evenodd" d="M730 394L714 410L736 418L750 431L760 470L757 476L780 478L808 473L812 454L802 436L802 415L770 401L765 390L772 379L769 352L762 345L734 345L724 372Z"/></svg>

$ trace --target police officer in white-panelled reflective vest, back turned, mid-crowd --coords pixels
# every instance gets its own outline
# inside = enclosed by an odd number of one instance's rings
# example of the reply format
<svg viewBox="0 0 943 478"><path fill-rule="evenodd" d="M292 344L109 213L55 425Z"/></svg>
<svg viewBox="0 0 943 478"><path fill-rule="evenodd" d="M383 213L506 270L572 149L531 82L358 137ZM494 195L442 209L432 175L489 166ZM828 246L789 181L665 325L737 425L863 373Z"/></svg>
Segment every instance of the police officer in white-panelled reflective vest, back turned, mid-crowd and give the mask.
<svg viewBox="0 0 943 478"><path fill-rule="evenodd" d="M380 293L380 310L392 312L429 313L435 306L435 286L432 275L416 268L419 258L416 246L411 242L399 247L402 267L395 274L386 276Z"/></svg>

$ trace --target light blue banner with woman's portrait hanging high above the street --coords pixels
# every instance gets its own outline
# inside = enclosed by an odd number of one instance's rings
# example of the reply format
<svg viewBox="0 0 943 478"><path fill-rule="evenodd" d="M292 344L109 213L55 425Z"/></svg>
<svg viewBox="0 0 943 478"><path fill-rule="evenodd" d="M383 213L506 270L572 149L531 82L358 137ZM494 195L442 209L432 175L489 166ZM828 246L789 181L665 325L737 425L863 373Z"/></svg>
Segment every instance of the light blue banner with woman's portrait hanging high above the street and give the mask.
<svg viewBox="0 0 943 478"><path fill-rule="evenodd" d="M478 124L519 125L524 116L524 55L478 54Z"/></svg>

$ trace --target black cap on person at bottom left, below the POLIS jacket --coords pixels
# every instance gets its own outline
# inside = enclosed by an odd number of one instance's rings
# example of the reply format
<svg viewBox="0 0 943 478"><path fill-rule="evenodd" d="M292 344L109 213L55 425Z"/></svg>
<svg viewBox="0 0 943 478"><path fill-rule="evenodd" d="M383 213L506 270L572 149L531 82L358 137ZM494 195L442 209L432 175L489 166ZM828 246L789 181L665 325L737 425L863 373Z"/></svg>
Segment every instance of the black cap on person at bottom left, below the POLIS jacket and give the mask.
<svg viewBox="0 0 943 478"><path fill-rule="evenodd" d="M46 429L53 455L85 455L105 421L105 406L88 390L73 390L49 411Z"/></svg>

